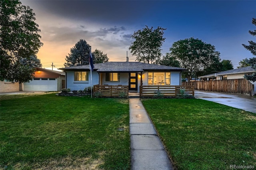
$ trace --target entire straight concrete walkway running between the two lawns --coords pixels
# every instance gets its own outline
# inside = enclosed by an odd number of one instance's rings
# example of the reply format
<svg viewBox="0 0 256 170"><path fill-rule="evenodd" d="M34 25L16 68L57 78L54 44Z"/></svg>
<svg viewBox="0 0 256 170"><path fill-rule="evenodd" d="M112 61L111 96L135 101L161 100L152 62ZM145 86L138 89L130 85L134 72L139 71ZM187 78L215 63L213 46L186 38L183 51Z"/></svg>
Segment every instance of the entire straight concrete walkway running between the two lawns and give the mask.
<svg viewBox="0 0 256 170"><path fill-rule="evenodd" d="M172 170L172 164L140 99L130 99L132 170Z"/></svg>

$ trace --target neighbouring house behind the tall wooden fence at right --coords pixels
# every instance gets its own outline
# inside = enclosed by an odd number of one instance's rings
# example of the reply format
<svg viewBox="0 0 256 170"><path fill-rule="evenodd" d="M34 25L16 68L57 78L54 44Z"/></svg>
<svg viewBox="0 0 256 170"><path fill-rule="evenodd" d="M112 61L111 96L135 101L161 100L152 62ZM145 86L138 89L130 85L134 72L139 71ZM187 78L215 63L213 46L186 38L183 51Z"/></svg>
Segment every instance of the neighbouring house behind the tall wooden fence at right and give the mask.
<svg viewBox="0 0 256 170"><path fill-rule="evenodd" d="M251 75L256 73L256 70L251 66L241 67L239 69L232 69L227 71L222 71L219 73L213 73L208 75L200 76L201 80L228 80L228 79L244 79L244 75ZM256 82L250 81L254 84L254 91L256 91Z"/></svg>

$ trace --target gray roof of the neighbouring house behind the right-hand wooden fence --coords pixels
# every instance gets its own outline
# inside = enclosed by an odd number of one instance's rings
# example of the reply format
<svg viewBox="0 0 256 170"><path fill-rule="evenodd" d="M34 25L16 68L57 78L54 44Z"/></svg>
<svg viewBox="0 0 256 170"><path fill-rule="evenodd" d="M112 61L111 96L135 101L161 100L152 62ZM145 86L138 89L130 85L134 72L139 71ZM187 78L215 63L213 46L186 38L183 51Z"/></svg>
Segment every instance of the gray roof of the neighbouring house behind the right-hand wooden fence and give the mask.
<svg viewBox="0 0 256 170"><path fill-rule="evenodd" d="M221 76L221 75L227 75L227 74L253 73L253 72L256 72L256 70L253 69L251 66L248 66L248 67L241 67L239 69L232 69L232 70L222 71L218 73L203 75L203 76L200 76L200 78L215 77L215 76Z"/></svg>

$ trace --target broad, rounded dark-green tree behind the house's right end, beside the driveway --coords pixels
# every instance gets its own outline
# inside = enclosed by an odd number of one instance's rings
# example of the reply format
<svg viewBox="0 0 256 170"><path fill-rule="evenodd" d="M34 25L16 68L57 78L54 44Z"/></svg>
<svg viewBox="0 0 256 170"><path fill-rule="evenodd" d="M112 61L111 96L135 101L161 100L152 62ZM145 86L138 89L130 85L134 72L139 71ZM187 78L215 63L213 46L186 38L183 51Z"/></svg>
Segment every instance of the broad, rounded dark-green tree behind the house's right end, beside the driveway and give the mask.
<svg viewBox="0 0 256 170"><path fill-rule="evenodd" d="M180 61L181 67L187 69L188 81L191 80L192 75L196 75L196 71L220 60L220 52L215 51L213 45L193 37L174 42L170 51L171 55Z"/></svg>

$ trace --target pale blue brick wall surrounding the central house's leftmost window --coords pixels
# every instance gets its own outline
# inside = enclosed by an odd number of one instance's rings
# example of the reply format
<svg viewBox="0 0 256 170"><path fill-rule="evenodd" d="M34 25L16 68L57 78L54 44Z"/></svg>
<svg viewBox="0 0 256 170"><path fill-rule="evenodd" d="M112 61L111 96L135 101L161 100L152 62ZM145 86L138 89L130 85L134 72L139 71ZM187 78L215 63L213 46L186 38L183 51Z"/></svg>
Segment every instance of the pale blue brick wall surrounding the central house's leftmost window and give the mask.
<svg viewBox="0 0 256 170"><path fill-rule="evenodd" d="M98 85L99 75L96 71L92 71L92 86ZM91 86L91 75L89 74L89 81L74 82L74 71L66 71L66 88L73 90L83 90L85 87Z"/></svg>

